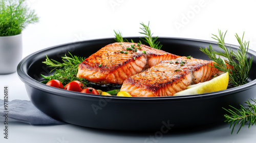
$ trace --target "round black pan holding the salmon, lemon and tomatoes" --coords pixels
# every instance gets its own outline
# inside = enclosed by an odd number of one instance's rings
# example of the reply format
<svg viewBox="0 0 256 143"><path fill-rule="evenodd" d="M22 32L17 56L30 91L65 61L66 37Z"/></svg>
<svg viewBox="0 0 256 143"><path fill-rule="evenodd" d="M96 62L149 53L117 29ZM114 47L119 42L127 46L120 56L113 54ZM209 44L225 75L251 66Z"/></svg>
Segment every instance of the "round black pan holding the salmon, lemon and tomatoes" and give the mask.
<svg viewBox="0 0 256 143"><path fill-rule="evenodd" d="M130 40L131 38L127 38ZM132 38L139 41L139 38ZM159 38L162 50L180 56L193 56L210 60L199 51L199 47L215 42L183 38ZM249 83L223 91L180 97L109 97L85 94L57 89L40 83L40 74L50 75L50 67L42 63L46 55L50 59L61 61L61 56L72 55L88 57L101 47L115 42L111 39L99 39L68 43L38 51L24 58L17 67L19 78L25 83L32 103L42 112L57 120L70 124L112 130L162 130L223 123L228 105L238 107L247 99L255 97L256 59L249 73ZM231 45L237 51L237 46ZM248 57L256 56L248 51ZM115 89L105 87L104 90Z"/></svg>

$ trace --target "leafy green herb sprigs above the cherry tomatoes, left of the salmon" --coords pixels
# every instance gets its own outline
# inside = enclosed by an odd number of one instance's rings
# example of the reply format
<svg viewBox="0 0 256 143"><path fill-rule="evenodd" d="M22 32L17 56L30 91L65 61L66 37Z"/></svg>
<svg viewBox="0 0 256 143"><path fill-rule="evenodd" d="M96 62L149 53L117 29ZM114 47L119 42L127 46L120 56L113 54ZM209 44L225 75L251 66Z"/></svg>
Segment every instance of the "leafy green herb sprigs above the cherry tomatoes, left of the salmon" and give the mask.
<svg viewBox="0 0 256 143"><path fill-rule="evenodd" d="M43 78L45 78L46 80L43 81L42 83L47 83L48 81L55 79L55 80L59 80L63 85L68 84L71 81L80 81L84 87L86 87L89 83L86 79L83 78L78 78L76 77L77 75L77 71L78 71L78 65L85 59L82 57L77 57L77 56L73 56L70 52L69 52L71 57L68 57L66 54L64 57L62 58L62 63L53 60L53 59L49 59L46 55L46 61L42 62L45 63L46 65L49 65L50 67L54 67L50 73L54 71L54 74L51 76L44 76L41 75Z"/></svg>

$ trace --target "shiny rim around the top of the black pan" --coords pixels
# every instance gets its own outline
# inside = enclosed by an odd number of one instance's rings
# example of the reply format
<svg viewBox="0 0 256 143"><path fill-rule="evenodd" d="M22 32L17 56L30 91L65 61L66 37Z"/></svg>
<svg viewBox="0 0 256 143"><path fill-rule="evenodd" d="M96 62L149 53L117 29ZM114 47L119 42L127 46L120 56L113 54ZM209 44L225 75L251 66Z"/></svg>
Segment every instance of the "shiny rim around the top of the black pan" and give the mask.
<svg viewBox="0 0 256 143"><path fill-rule="evenodd" d="M124 38L139 38L139 37L124 37ZM102 38L102 39L93 39L93 40L84 40L84 41L79 41L79 42L89 42L89 41L101 41L101 40L112 40L113 38ZM190 40L190 41L199 41L199 42L206 42L206 43L214 43L216 44L217 42L214 41L209 41L209 40L200 40L200 39L191 39L191 38L179 38L179 37L159 37L159 39L177 39L177 40ZM217 92L210 92L210 93L203 93L203 94L195 94L195 95L189 95L189 96L170 96L170 97L116 97L116 96L98 96L95 94L87 94L87 93L79 93L79 92L74 92L74 91L68 91L64 89L58 89L55 87L47 86L45 84L40 83L39 81L36 81L35 79L31 78L27 73L26 73L26 67L25 65L27 64L27 60L32 58L33 56L46 52L64 45L69 45L69 44L75 44L77 42L70 42L70 43L65 43L65 44L60 44L60 45L55 45L52 47L48 47L46 49L40 50L38 52L32 53L29 56L25 57L22 61L17 66L17 74L25 84L39 89L39 90L44 90L45 92L51 92L55 96L62 96L62 97L68 97L68 98L77 98L77 99L85 99L85 98L104 98L104 99L115 99L118 101L122 100L129 100L129 101L152 101L152 100L165 100L165 101L185 101L185 100L200 100L200 99L206 99L206 98L215 98L215 97L221 97L225 96L227 94L233 94L237 92L241 92L244 90L248 90L254 86L256 86L256 80L250 81L247 84L238 86L238 87L233 87L230 89L222 90L222 91L217 91ZM231 47L238 49L237 45L233 44L227 44L230 45ZM248 50L248 53L252 55L256 55L256 52L253 50Z"/></svg>

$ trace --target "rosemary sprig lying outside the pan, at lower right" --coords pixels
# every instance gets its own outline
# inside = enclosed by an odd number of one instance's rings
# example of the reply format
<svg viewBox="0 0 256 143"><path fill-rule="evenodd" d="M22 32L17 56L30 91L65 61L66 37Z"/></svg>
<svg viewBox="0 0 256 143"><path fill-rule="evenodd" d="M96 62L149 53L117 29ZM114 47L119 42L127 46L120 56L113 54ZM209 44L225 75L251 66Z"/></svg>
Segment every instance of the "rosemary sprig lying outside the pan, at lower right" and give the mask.
<svg viewBox="0 0 256 143"><path fill-rule="evenodd" d="M236 127L237 124L241 124L240 128L238 129L237 134L239 133L239 131L241 130L242 127L244 127L244 125L249 122L249 126L248 128L250 128L250 125L256 125L256 100L255 99L251 99L251 101L254 102L254 104L251 104L250 101L248 100L247 102L245 102L246 108L243 107L242 105L240 105L240 109L234 108L232 106L230 106L231 108L234 109L225 109L228 113L230 113L230 115L225 114L224 117L226 118L225 122L231 123L230 125L230 129L232 128L231 134L234 131L234 127ZM233 126L233 127L232 127Z"/></svg>

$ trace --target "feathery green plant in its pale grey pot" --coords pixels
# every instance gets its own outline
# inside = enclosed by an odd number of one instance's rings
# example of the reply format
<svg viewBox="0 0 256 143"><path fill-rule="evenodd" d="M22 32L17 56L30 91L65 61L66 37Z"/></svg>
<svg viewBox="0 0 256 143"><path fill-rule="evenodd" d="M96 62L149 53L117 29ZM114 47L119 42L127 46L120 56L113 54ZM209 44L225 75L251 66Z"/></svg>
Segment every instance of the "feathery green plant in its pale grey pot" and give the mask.
<svg viewBox="0 0 256 143"><path fill-rule="evenodd" d="M0 0L0 74L14 73L22 59L22 31L38 22L26 0Z"/></svg>

